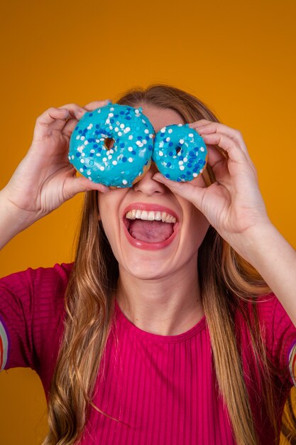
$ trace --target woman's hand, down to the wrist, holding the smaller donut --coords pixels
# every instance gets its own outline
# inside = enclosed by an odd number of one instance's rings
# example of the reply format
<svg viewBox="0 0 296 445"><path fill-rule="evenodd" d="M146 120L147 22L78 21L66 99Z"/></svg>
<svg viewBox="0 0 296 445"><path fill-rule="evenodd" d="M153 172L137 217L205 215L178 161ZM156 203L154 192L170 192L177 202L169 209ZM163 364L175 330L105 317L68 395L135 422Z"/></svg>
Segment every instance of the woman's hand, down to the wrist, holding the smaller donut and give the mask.
<svg viewBox="0 0 296 445"><path fill-rule="evenodd" d="M216 182L201 187L197 186L199 177L187 183L178 183L160 173L155 173L153 179L193 203L221 237L246 257L243 244L250 230L263 230L271 223L259 191L256 168L243 137L236 129L206 119L193 122L190 127L207 144L208 163Z"/></svg>

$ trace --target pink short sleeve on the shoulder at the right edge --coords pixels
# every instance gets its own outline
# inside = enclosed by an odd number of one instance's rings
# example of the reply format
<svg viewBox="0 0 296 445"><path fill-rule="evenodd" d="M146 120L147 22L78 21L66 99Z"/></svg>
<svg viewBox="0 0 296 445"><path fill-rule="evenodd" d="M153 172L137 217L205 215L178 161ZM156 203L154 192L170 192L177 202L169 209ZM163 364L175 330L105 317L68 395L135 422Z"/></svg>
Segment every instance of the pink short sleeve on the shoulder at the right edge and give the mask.
<svg viewBox="0 0 296 445"><path fill-rule="evenodd" d="M266 343L280 380L287 387L296 386L296 328L274 294L268 296L267 304L259 303L258 307L265 318Z"/></svg>

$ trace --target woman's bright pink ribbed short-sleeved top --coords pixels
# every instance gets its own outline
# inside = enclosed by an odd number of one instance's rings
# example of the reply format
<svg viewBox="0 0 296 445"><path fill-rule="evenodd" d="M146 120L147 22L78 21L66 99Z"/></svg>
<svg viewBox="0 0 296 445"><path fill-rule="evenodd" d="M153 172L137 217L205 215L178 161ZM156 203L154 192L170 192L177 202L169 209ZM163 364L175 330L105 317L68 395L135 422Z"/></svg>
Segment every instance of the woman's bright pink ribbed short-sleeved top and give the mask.
<svg viewBox="0 0 296 445"><path fill-rule="evenodd" d="M71 264L56 264L0 280L2 368L35 369L46 395L62 338L63 301L71 268ZM288 358L296 329L275 296L259 300L268 356L279 370L274 385L280 421L292 386ZM250 336L240 315L236 332L243 345L243 369L261 444L271 445L275 439L261 403ZM91 408L80 445L235 444L216 387L205 317L185 333L158 336L133 325L116 302L94 404L113 419Z"/></svg>

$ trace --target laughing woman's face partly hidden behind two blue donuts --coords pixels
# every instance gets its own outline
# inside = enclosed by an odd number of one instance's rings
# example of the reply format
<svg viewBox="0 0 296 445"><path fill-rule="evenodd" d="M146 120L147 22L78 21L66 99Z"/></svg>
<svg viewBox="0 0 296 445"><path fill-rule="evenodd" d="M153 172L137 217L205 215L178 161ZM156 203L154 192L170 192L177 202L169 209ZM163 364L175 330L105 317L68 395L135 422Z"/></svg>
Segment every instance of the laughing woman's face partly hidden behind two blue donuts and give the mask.
<svg viewBox="0 0 296 445"><path fill-rule="evenodd" d="M143 114L148 117L155 132L167 125L185 123L173 109L141 103L137 106L143 108ZM102 225L119 268L140 279L168 277L179 272L180 268L190 270L192 264L196 269L197 250L209 227L207 218L192 203L153 180L153 174L157 171L155 164L151 163L141 181L132 188L116 188L109 193L99 193ZM191 182L205 187L201 175ZM164 218L162 212L165 212L175 220L167 223L128 219L126 213L130 210L140 211L138 215L141 218L147 215L149 218Z"/></svg>

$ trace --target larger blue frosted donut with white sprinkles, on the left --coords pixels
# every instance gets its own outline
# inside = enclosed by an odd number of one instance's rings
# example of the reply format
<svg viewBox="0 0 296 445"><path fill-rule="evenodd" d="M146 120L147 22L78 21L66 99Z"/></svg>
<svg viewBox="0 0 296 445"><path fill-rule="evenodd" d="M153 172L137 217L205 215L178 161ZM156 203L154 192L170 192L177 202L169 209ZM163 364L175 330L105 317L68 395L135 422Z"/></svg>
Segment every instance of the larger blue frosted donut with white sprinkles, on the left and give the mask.
<svg viewBox="0 0 296 445"><path fill-rule="evenodd" d="M80 119L72 132L68 158L89 181L131 187L150 167L154 136L141 107L106 105Z"/></svg>

